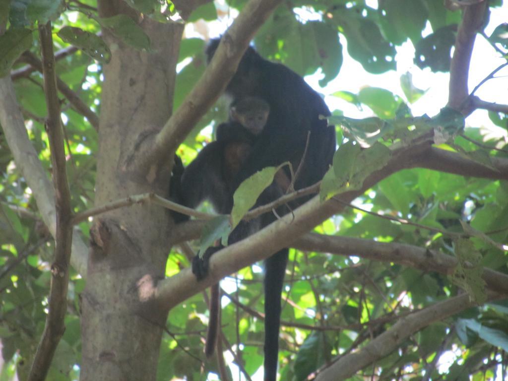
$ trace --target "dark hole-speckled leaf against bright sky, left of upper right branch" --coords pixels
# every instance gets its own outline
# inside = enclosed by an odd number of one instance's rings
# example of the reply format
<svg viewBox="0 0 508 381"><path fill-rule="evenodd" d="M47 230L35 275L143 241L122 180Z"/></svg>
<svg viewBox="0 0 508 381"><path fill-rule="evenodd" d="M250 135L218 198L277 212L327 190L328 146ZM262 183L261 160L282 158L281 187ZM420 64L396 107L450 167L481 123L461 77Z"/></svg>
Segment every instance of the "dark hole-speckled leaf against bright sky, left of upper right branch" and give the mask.
<svg viewBox="0 0 508 381"><path fill-rule="evenodd" d="M433 72L450 71L451 50L455 45L456 25L444 26L416 44L415 63Z"/></svg>

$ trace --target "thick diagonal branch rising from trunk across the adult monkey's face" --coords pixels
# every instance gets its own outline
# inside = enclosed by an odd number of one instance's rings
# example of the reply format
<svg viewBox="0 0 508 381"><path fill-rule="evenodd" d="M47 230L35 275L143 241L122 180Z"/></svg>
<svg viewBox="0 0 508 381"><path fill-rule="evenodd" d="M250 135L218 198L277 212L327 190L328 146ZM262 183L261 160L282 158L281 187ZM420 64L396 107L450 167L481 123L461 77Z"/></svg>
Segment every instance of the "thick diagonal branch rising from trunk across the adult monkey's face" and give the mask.
<svg viewBox="0 0 508 381"><path fill-rule="evenodd" d="M210 65L182 105L166 122L154 141L145 140L130 163L144 168L149 163L173 157L185 136L213 105L233 77L247 46L281 0L250 0L224 34Z"/></svg>

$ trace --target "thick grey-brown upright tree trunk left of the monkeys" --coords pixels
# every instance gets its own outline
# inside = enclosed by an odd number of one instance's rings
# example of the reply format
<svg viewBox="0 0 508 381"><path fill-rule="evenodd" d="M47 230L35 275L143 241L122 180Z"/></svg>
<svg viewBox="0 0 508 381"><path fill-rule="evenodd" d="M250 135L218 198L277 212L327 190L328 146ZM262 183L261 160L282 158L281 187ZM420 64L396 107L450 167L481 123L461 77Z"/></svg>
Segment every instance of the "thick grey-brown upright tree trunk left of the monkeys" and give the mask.
<svg viewBox="0 0 508 381"><path fill-rule="evenodd" d="M100 4L103 17L118 12L106 3L102 9ZM128 171L125 163L139 139L160 130L171 114L183 27L149 18L139 24L151 39L151 52L103 32L112 58L104 66L96 205L168 193L170 160L148 171ZM146 204L94 218L81 306L82 380L155 379L167 311L142 302L164 277L171 227L165 209Z"/></svg>

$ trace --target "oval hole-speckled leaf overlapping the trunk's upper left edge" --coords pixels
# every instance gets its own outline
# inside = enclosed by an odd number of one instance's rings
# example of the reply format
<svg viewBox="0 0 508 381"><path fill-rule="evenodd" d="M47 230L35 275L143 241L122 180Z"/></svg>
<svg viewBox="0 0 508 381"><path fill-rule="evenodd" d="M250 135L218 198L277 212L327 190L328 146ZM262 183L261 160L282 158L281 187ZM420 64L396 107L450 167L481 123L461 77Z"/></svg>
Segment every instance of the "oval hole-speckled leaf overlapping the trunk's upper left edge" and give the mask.
<svg viewBox="0 0 508 381"><path fill-rule="evenodd" d="M105 63L111 59L111 51L108 45L101 37L93 33L73 26L64 26L58 31L57 35L63 41L80 48L99 62Z"/></svg>

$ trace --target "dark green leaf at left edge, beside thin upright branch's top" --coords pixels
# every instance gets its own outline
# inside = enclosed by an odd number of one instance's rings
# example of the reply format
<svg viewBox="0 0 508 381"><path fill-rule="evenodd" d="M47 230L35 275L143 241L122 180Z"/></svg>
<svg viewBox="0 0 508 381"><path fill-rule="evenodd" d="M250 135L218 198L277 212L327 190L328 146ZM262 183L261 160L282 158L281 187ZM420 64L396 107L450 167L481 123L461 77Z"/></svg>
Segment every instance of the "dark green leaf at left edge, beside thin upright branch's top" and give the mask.
<svg viewBox="0 0 508 381"><path fill-rule="evenodd" d="M16 59L32 44L31 30L11 28L0 36L0 78L9 74Z"/></svg>

